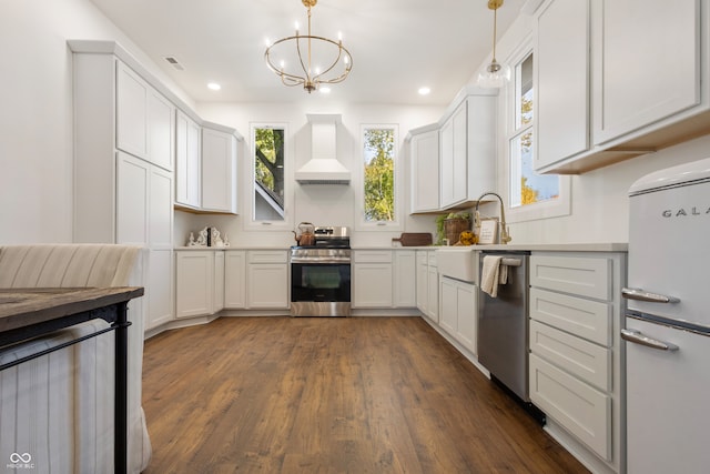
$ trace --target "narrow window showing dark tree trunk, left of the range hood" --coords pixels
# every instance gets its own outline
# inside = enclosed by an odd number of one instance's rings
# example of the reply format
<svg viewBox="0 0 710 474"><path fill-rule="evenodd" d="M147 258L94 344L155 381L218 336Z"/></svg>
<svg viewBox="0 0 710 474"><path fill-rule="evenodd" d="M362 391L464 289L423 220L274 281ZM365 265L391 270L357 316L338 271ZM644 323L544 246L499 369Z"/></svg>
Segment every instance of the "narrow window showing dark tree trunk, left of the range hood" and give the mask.
<svg viewBox="0 0 710 474"><path fill-rule="evenodd" d="M252 125L252 222L283 223L286 215L286 128Z"/></svg>

